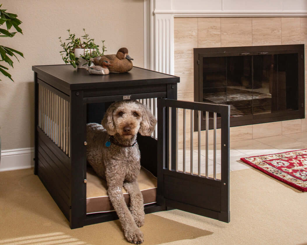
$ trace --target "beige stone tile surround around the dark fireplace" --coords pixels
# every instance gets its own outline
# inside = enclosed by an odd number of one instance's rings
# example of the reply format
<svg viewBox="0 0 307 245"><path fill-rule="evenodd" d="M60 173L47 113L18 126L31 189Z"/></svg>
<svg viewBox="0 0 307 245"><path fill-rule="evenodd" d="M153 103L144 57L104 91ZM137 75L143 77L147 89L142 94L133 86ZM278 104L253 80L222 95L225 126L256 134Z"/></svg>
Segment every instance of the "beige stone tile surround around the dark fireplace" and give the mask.
<svg viewBox="0 0 307 245"><path fill-rule="evenodd" d="M174 74L180 76L178 99L194 100L193 48L286 44L305 44L306 51L307 17L175 17ZM305 97L306 79L305 62ZM305 99L305 115L306 108ZM179 122L179 129L180 125ZM270 122L231 127L230 140L240 141L306 131L306 119ZM202 131L202 134L205 132Z"/></svg>

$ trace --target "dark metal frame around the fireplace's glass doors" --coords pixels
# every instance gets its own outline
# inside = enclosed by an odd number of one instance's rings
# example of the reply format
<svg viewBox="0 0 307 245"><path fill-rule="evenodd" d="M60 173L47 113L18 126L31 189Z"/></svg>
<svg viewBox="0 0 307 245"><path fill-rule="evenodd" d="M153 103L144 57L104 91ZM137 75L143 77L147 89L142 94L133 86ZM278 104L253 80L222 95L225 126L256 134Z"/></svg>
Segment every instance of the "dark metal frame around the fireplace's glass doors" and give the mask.
<svg viewBox="0 0 307 245"><path fill-rule="evenodd" d="M245 46L245 47L221 47L221 48L195 48L194 49L194 101L203 102L203 57L216 56L254 56L266 54L298 54L298 110L270 114L248 115L230 119L230 126L250 125L264 122L276 122L290 119L305 118L305 65L304 44L298 45L268 45L268 46ZM201 82L200 82L201 81ZM202 116L202 115L201 115ZM209 129L213 128L213 120L209 120ZM196 121L197 123L197 121ZM220 127L220 120L217 120ZM197 128L197 127L196 127ZM205 129L205 120L201 123L201 130Z"/></svg>

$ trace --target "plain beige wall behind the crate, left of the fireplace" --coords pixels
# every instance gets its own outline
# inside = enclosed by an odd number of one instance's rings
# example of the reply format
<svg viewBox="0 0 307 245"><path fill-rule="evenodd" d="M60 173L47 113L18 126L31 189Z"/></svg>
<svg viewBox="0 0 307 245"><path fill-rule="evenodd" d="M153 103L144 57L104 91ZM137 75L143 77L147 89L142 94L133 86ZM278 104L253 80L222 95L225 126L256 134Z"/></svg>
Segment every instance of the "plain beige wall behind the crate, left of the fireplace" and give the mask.
<svg viewBox="0 0 307 245"><path fill-rule="evenodd" d="M23 35L1 37L1 45L25 56L10 68L15 83L0 75L2 150L33 147L32 66L64 64L58 37L65 39L67 29L81 36L85 28L98 44L105 40L108 54L126 47L134 65L144 66L143 0L4 0L2 9L18 15Z"/></svg>

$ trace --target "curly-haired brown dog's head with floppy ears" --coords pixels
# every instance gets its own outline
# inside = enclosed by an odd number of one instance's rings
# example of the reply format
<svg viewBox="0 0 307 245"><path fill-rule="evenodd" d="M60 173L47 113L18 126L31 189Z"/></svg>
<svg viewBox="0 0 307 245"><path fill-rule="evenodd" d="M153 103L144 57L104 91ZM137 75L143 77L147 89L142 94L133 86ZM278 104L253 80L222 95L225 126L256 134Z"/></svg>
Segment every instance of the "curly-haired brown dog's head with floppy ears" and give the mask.
<svg viewBox="0 0 307 245"><path fill-rule="evenodd" d="M110 135L118 133L124 138L131 138L138 132L150 136L157 119L150 110L136 100L118 101L107 109L102 125Z"/></svg>

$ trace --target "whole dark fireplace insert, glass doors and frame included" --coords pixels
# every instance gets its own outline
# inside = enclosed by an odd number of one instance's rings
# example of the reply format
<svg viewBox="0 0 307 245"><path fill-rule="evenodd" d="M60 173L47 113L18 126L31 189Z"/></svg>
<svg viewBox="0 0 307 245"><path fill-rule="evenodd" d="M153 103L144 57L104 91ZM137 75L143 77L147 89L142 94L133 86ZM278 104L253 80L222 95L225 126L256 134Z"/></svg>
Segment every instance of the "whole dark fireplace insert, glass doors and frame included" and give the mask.
<svg viewBox="0 0 307 245"><path fill-rule="evenodd" d="M230 105L230 126L301 119L304 71L303 44L196 48L194 101Z"/></svg>

